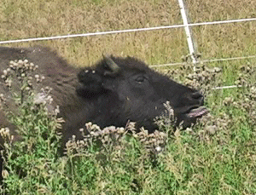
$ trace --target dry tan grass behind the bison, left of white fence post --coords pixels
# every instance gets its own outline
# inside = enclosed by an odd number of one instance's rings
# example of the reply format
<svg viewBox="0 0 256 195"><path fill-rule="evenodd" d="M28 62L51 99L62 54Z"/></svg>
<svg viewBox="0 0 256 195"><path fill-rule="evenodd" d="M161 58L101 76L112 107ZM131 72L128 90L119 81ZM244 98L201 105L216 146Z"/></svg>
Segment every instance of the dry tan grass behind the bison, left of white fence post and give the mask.
<svg viewBox="0 0 256 195"><path fill-rule="evenodd" d="M166 1L157 3L154 1L140 1L139 3L134 1L101 1L99 3L96 1L66 1L64 3L63 1L50 3L22 1L11 3L8 1L1 7L5 8L3 22L0 21L3 23L0 32L2 39L104 32L177 24L180 21L177 4L166 3ZM182 53L184 47L177 50L172 44L173 40L185 47L182 30L84 37L49 41L43 44L59 50L73 63L86 66L98 60L102 52L136 55L143 60L152 59L154 63L158 63L163 54L166 54L166 61L177 60L172 59L174 55L170 56L170 54L176 51ZM18 45L30 45L30 43ZM168 45L173 46L167 47ZM158 60L154 60L154 55Z"/></svg>

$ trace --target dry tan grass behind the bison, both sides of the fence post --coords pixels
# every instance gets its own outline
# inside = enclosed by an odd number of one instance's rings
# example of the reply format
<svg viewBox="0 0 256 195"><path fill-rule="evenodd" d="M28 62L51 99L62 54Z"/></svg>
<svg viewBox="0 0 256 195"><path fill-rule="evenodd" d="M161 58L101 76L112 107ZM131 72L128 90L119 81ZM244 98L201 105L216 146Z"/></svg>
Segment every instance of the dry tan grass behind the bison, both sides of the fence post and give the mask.
<svg viewBox="0 0 256 195"><path fill-rule="evenodd" d="M188 1L193 22L253 17L253 0L237 3ZM239 9L237 9L239 8ZM85 32L104 32L148 26L182 24L177 1L2 1L2 40L48 37ZM255 22L194 27L195 40L203 59L254 54ZM97 37L79 37L10 46L45 44L58 50L73 64L88 66L102 53L133 55L149 64L180 61L189 51L183 29L132 32Z"/></svg>

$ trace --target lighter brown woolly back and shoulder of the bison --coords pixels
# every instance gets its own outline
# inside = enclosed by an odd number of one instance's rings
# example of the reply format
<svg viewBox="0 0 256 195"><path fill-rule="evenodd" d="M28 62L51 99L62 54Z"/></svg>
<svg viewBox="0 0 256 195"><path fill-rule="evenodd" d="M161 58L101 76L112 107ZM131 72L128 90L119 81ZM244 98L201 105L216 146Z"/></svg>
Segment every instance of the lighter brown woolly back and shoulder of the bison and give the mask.
<svg viewBox="0 0 256 195"><path fill-rule="evenodd" d="M67 64L53 51L48 48L0 48L0 75L3 75L3 70L9 67L10 60L28 60L29 62L38 65L36 74L44 75L45 79L42 83L36 86L36 91L49 86L53 90L51 96L54 99L52 107L61 106L62 113L72 112L75 107L79 107L80 99L76 95L77 72L73 66ZM17 90L17 84L12 84L12 90ZM15 112L16 106L10 96L9 89L5 86L3 79L0 80L0 94L3 94L7 100L9 110ZM65 114L64 114L65 117ZM9 127L12 132L15 126L9 123L3 111L0 110L0 128ZM1 141L1 144L3 141Z"/></svg>

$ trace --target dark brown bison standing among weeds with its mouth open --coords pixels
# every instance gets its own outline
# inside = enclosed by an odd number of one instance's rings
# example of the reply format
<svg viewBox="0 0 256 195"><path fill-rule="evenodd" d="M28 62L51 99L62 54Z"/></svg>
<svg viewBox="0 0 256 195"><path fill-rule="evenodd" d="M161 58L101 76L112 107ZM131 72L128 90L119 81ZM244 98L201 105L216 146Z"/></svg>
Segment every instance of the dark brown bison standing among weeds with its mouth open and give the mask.
<svg viewBox="0 0 256 195"><path fill-rule="evenodd" d="M26 59L39 66L38 74L44 75L45 79L36 90L44 86L53 89L53 106L60 106L60 116L66 120L64 141L72 135L82 138L79 129L87 122L103 128L121 127L132 121L137 123L137 129L144 127L153 132L157 129L154 118L165 112L166 101L174 110L176 125L183 123L183 128L207 112L199 91L172 81L132 57L105 56L95 66L80 69L68 65L49 48L1 47L0 74L9 66L10 60L17 59ZM0 91L9 93L2 80ZM7 104L11 111L15 111L11 99ZM3 126L15 129L0 111L0 127Z"/></svg>

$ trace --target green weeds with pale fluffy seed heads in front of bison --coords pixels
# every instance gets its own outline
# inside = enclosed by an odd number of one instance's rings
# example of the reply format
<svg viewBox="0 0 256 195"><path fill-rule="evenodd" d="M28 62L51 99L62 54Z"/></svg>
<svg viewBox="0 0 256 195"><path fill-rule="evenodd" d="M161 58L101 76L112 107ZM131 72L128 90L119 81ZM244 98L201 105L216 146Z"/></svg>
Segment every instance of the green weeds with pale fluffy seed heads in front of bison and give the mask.
<svg viewBox="0 0 256 195"><path fill-rule="evenodd" d="M186 72L191 66L181 67ZM241 67L236 96L222 100L223 108L201 118L191 129L174 129L172 107L156 118L160 131L125 128L100 129L86 123L84 140L75 136L61 155L61 119L35 101L32 89L16 96L19 115L9 114L20 141L2 129L5 143L5 194L252 194L256 192L256 89L250 77L255 68ZM172 73L172 72L169 72ZM245 74L247 73L247 74ZM216 68L204 66L189 83L201 77L218 82ZM244 76L244 77L243 77ZM22 80L22 82L21 82ZM26 79L21 79L24 86ZM207 82L212 85L211 82ZM201 85L204 86L204 85ZM196 87L196 86L195 86ZM208 89L207 84L204 87ZM24 89L21 87L20 90ZM46 100L49 100L46 99ZM36 102L36 103L35 103ZM84 129L80 129L84 132ZM5 131L4 131L5 130ZM7 130L7 131L6 131Z"/></svg>

